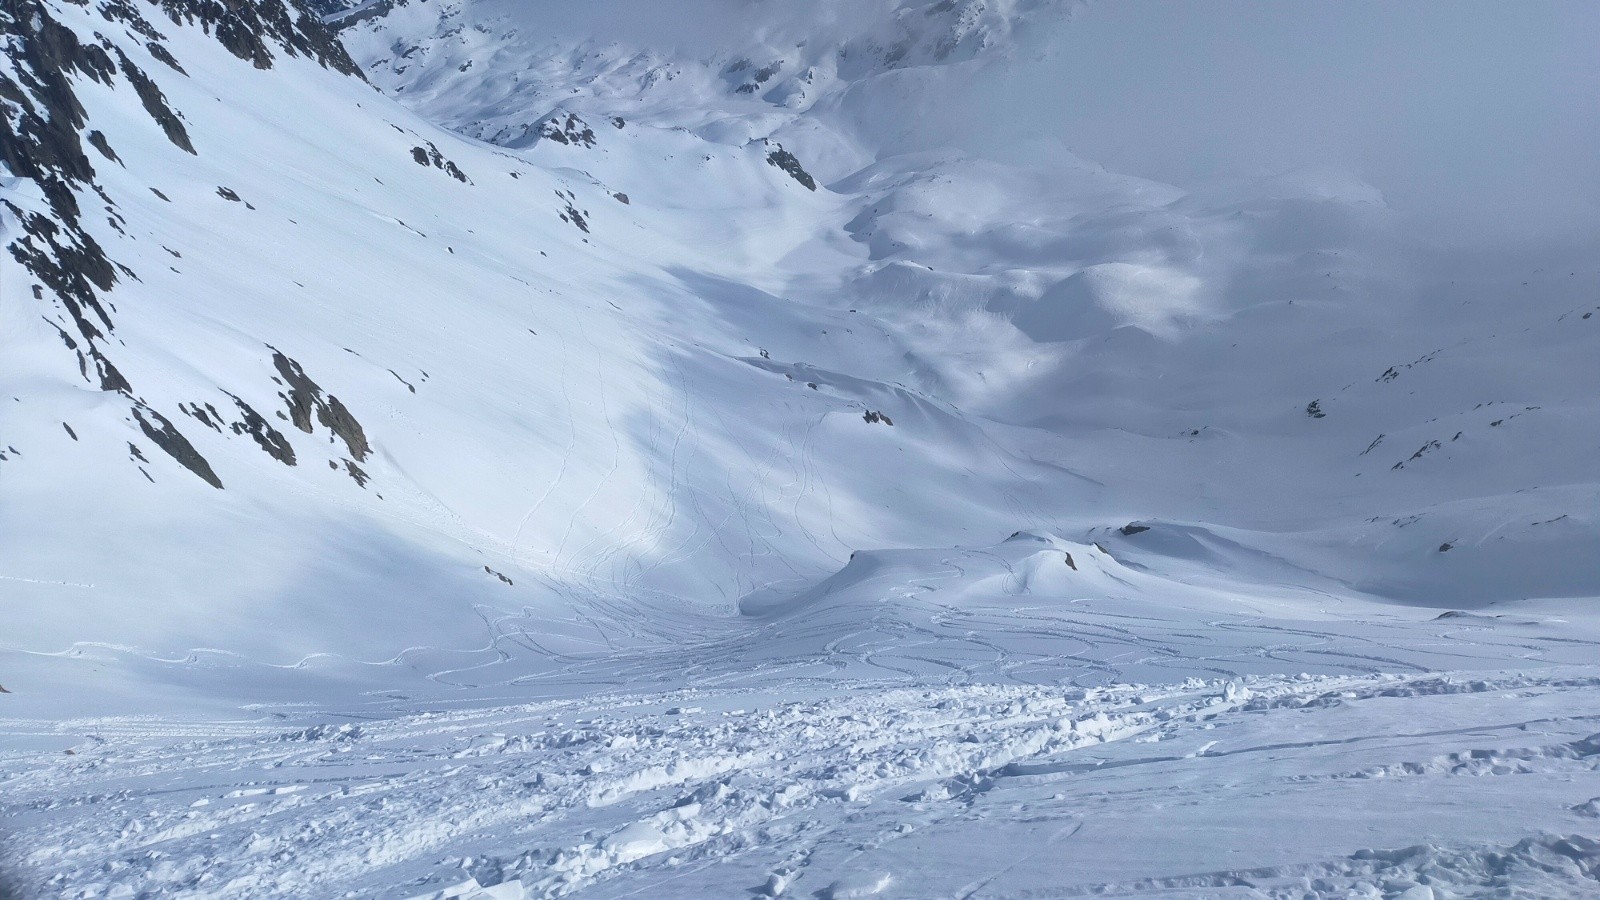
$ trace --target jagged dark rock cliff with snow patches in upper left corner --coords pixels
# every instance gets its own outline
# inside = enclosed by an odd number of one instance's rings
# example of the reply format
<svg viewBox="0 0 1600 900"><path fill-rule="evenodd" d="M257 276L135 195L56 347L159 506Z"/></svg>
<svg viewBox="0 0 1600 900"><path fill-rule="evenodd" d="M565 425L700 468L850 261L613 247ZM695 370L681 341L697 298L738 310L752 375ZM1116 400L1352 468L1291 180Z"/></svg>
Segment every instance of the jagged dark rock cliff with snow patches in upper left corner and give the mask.
<svg viewBox="0 0 1600 900"><path fill-rule="evenodd" d="M62 13L74 6L78 14L70 18L77 27L62 21ZM0 162L11 178L27 184L0 199L10 213L5 250L34 277L29 299L77 356L85 381L123 396L160 450L213 487L222 487L189 439L141 397L114 362L118 340L109 293L120 280L138 280L139 272L114 259L93 229L85 227L85 219L104 216L112 229L126 234L118 199L96 171L125 163L85 110L80 93L86 85L131 93L174 147L197 152L182 110L173 107L144 67L154 62L176 77L189 77L163 27L198 29L258 69L270 69L278 56L312 59L350 77L360 77L360 69L322 19L294 0L155 5L72 0L67 6L16 0L0 8L5 58L0 98L6 101L0 115ZM240 407L246 420L259 420L243 402ZM245 428L245 421L232 426Z"/></svg>

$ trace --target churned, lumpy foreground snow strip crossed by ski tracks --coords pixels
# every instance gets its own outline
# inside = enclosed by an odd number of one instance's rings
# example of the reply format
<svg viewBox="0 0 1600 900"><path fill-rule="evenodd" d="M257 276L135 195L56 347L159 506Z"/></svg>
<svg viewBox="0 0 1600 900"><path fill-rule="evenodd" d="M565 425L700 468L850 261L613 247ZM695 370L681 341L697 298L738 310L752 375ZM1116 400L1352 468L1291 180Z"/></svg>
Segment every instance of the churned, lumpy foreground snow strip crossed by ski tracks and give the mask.
<svg viewBox="0 0 1600 900"><path fill-rule="evenodd" d="M27 721L56 746L6 751L0 788L16 876L56 897L1579 895L1600 889L1597 689L842 681ZM1477 822L1426 841L1458 804Z"/></svg>

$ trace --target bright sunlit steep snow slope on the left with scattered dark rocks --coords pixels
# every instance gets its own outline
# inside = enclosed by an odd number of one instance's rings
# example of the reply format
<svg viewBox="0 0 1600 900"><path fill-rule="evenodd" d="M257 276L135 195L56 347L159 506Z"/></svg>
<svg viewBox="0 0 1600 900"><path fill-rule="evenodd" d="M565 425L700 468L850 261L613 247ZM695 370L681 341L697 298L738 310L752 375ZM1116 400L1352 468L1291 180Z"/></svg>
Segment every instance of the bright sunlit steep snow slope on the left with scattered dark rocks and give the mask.
<svg viewBox="0 0 1600 900"><path fill-rule="evenodd" d="M109 30L94 8L51 14L85 42ZM75 224L128 271L77 298L6 272L27 349L8 380L30 384L6 429L22 647L386 660L624 597L682 628L856 546L925 540L926 501L878 472L950 482L1011 453L850 375L902 352L870 317L742 277L837 218L758 151L682 187L707 215L629 203L322 64L258 70L162 27L182 70L142 70L195 152L149 139L123 82L74 85L117 154L93 181L106 211ZM922 434L869 421L880 407ZM1029 471L1048 469L974 476L938 543L1011 527ZM378 599L390 625L357 628Z"/></svg>

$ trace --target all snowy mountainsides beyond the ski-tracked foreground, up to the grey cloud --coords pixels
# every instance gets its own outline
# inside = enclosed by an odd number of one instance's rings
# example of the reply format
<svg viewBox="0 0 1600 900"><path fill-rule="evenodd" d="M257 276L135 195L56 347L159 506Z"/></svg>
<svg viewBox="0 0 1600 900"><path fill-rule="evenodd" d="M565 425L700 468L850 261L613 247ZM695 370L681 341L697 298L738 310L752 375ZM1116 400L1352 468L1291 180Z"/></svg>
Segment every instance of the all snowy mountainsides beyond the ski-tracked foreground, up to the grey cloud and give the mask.
<svg viewBox="0 0 1600 900"><path fill-rule="evenodd" d="M1600 594L1592 259L917 149L1067 5L728 8L336 13L405 106L280 3L10 19L10 649L526 671L1016 530L1224 605Z"/></svg>

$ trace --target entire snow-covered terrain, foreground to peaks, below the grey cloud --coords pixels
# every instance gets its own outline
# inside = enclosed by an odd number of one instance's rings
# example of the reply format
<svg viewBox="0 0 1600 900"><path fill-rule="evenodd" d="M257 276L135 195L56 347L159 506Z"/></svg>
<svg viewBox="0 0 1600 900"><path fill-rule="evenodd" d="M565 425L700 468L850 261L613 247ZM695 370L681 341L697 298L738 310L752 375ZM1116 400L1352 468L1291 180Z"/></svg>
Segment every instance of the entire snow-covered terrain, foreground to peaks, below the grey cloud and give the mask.
<svg viewBox="0 0 1600 900"><path fill-rule="evenodd" d="M1592 259L1419 247L1338 173L1184 191L944 149L949 88L1048 48L1064 2L314 6L0 10L0 772L29 892L1016 895L1066 884L1043 860L1080 831L1165 833L1022 825L1080 772L1147 770L1107 788L1144 796L1413 708L1442 719L1426 759L1291 754L1274 783L1331 810L1504 765L1538 798L1485 786L1515 815L1414 852L1392 818L1062 890L1594 879ZM189 725L104 717L242 705L312 730L176 748ZM768 719L734 735L744 706ZM1456 716L1494 719L1490 756ZM776 733L838 722L814 756ZM506 748L531 756L483 762ZM128 799L176 761L307 772ZM1270 833L1227 778L1184 828ZM909 874L989 817L1040 855Z"/></svg>

